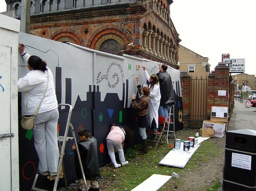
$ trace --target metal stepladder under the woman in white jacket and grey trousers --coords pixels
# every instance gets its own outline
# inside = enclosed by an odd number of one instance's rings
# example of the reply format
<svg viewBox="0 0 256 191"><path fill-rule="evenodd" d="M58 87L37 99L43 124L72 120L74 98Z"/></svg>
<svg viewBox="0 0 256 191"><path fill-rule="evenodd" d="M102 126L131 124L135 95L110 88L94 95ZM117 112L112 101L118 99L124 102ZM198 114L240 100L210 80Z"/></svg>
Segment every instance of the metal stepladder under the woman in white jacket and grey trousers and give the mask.
<svg viewBox="0 0 256 191"><path fill-rule="evenodd" d="M66 188L66 190L68 190L68 181L66 179L65 166L64 166L63 159L64 159L64 156L65 156L66 142L73 140L74 144L76 145L76 149L77 149L77 157L78 157L78 161L79 161L79 164L80 164L82 177L83 177L83 180L84 180L85 190L88 191L87 186L86 186L84 170L82 168L82 161L81 161L81 157L80 157L80 152L79 152L79 148L78 148L78 145L77 145L76 134L74 132L73 125L70 123L71 116L72 116L72 109L73 108L72 108L72 105L69 105L69 104L58 104L58 108L60 108L60 107L69 108L68 109L68 119L66 120L66 126L65 126L64 135L60 135L59 131L57 131L58 152L59 152L58 168L57 168L56 176L47 176L47 178L49 180L53 180L54 181L53 188L50 188L50 189L47 189L47 190L56 191L57 190L57 186L58 186L58 181L59 181L60 178L64 178L64 180L65 180L65 188ZM69 131L72 132L72 136L68 136ZM41 174L41 173L39 173L37 171L36 176L34 178L34 182L33 182L32 188L30 190L44 191L46 189L42 189L42 188L37 188L36 187L37 186L37 181L38 181L38 176L45 176L45 175Z"/></svg>

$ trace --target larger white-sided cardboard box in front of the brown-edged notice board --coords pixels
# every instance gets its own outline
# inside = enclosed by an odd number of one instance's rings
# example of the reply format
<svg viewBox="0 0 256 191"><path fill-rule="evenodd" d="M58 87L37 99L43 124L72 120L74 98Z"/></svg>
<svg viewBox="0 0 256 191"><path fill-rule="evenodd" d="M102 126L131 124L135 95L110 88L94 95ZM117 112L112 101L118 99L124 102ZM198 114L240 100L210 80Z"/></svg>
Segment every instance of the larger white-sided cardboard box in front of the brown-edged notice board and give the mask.
<svg viewBox="0 0 256 191"><path fill-rule="evenodd" d="M214 136L222 138L226 132L226 123L219 122L219 121L203 121L203 129L214 129Z"/></svg>

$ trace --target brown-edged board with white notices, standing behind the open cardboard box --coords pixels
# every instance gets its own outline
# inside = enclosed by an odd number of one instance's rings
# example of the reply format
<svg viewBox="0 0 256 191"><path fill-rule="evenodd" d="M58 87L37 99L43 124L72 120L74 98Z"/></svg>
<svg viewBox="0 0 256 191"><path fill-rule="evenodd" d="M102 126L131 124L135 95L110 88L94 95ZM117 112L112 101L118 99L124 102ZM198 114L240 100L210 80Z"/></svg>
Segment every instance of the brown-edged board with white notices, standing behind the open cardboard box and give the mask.
<svg viewBox="0 0 256 191"><path fill-rule="evenodd" d="M211 107L211 121L225 122L226 130L228 129L229 108L223 106Z"/></svg>

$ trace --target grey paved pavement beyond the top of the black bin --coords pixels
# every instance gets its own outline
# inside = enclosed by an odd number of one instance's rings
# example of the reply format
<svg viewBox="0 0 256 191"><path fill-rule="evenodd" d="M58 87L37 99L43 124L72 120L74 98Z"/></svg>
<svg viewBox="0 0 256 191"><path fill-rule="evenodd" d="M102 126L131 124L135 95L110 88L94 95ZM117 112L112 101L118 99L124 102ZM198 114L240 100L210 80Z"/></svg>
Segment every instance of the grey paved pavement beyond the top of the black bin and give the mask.
<svg viewBox="0 0 256 191"><path fill-rule="evenodd" d="M246 107L247 100L235 100L235 107L229 121L228 131L235 131L238 129L251 129L256 131L256 107ZM242 103L241 103L242 102ZM220 178L222 183L223 174ZM218 189L222 191L222 187Z"/></svg>

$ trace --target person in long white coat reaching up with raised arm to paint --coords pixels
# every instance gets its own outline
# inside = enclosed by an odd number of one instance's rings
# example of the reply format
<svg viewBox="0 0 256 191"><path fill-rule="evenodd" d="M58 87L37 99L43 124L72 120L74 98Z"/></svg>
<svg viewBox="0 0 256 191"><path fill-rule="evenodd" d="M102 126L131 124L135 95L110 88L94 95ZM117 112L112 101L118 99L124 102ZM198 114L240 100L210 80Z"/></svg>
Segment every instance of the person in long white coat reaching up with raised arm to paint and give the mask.
<svg viewBox="0 0 256 191"><path fill-rule="evenodd" d="M150 104L148 107L148 125L149 125L149 131L157 132L158 131L158 109L160 105L160 85L159 80L156 74L149 75L146 71L146 68L143 66L143 74L145 78L149 82L149 88L150 88Z"/></svg>

